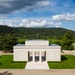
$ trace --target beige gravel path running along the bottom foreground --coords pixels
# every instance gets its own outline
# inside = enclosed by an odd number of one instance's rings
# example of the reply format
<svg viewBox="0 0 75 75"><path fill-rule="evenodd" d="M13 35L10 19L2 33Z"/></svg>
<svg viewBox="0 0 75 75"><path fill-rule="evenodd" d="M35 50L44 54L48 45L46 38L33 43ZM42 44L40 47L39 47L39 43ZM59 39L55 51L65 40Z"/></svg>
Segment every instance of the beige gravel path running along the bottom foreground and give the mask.
<svg viewBox="0 0 75 75"><path fill-rule="evenodd" d="M75 75L75 69L23 70L0 69L0 75Z"/></svg>

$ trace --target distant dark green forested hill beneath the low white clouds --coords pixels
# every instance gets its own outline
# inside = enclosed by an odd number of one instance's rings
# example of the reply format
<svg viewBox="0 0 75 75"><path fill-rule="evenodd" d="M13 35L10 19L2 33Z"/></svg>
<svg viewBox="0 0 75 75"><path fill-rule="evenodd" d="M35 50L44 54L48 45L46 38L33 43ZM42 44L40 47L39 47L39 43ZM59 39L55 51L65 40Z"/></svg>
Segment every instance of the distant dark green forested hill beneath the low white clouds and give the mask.
<svg viewBox="0 0 75 75"><path fill-rule="evenodd" d="M8 27L0 25L0 35L11 34L15 37L32 38L62 38L68 29L64 28L25 28L25 27ZM72 30L70 30L72 31ZM73 37L75 37L75 31ZM38 35L37 35L38 34Z"/></svg>

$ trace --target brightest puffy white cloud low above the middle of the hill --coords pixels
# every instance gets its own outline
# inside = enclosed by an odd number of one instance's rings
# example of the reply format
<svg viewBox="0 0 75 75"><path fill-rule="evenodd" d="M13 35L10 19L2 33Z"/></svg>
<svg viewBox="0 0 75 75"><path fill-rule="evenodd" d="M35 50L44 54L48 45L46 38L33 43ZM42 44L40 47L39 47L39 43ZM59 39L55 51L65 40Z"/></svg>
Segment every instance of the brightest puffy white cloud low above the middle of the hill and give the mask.
<svg viewBox="0 0 75 75"><path fill-rule="evenodd" d="M20 23L20 27L60 27L61 23L54 23L54 22L50 22L47 20L41 20L41 19L37 19L37 20L28 20L28 19L23 19L22 22Z"/></svg>

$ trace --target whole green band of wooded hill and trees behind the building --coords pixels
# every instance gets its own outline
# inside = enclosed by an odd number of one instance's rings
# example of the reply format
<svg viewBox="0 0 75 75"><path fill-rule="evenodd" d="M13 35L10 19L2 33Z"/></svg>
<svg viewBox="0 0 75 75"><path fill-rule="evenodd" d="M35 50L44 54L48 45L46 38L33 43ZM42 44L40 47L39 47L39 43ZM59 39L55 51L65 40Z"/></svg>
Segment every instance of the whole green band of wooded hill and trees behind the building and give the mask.
<svg viewBox="0 0 75 75"><path fill-rule="evenodd" d="M75 32L63 28L22 28L0 26L0 50L13 50L18 44L18 39L61 39L56 44L61 45L64 50L73 50L72 43L75 42Z"/></svg>

